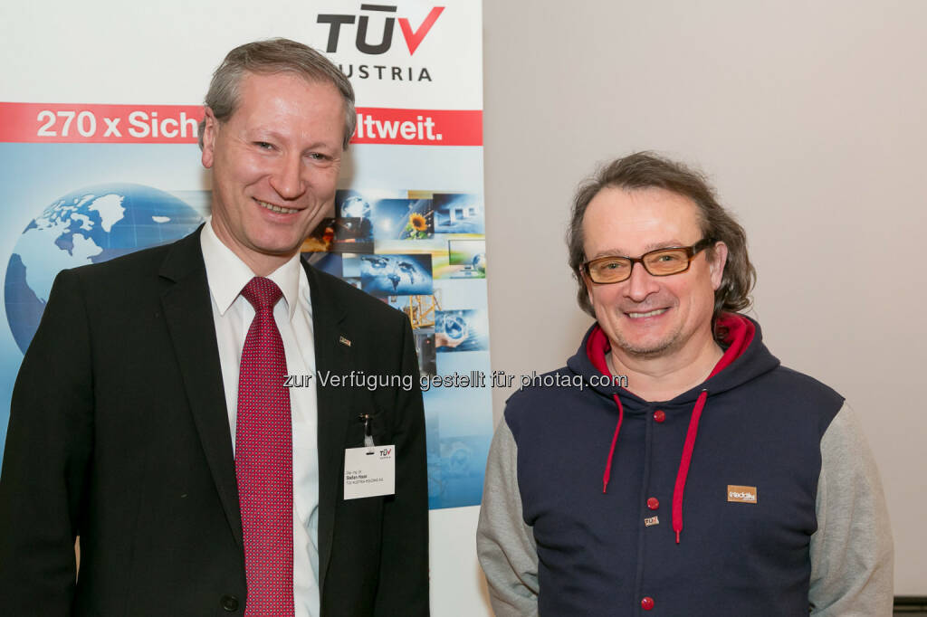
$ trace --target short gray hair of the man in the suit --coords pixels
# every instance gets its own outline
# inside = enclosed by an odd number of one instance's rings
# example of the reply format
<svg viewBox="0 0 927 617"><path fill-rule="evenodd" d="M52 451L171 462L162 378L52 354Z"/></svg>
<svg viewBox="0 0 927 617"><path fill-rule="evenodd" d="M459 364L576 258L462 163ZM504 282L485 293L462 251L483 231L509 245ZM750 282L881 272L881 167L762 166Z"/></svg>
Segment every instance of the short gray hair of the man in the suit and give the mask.
<svg viewBox="0 0 927 617"><path fill-rule="evenodd" d="M235 47L212 74L206 107L216 120L231 118L238 107L238 84L245 73L270 74L290 72L307 82L327 82L334 85L345 103L345 136L342 147L347 150L357 125L354 111L354 89L348 78L332 62L308 45L289 39L268 39ZM203 148L206 119L199 123L199 148Z"/></svg>

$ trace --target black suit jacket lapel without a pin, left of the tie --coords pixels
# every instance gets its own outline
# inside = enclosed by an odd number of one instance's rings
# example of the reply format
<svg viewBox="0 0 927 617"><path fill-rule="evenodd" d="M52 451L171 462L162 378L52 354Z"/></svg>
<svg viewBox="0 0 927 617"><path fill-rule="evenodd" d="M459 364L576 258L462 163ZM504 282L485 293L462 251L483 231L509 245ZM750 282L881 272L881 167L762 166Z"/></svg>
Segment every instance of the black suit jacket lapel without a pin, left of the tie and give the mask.
<svg viewBox="0 0 927 617"><path fill-rule="evenodd" d="M199 231L173 247L164 259L159 275L173 282L161 296L164 317L222 509L235 541L242 546L232 435L222 389L219 346L216 344L210 286L199 245Z"/></svg>

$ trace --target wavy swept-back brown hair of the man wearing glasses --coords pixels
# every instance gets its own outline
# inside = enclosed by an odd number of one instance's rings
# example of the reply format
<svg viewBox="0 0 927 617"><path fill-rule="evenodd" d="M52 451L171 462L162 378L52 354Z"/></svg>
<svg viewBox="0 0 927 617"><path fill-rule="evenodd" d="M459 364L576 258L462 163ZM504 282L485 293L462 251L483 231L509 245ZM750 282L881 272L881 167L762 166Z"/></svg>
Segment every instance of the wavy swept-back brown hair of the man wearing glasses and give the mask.
<svg viewBox="0 0 927 617"><path fill-rule="evenodd" d="M728 261L724 267L721 285L715 291L713 329L717 316L722 311L736 312L750 307L750 292L756 283L756 269L750 263L750 256L747 254L746 233L733 216L717 202L717 195L708 184L705 175L653 152L636 152L603 166L590 179L579 185L573 199L570 226L566 231L566 246L569 251L570 270L578 283L577 300L580 308L595 317L581 271L582 264L586 261L582 221L592 198L604 188L620 188L627 191L661 188L691 199L698 208L702 237L713 238L728 246ZM711 257L713 249L709 248L707 251Z"/></svg>

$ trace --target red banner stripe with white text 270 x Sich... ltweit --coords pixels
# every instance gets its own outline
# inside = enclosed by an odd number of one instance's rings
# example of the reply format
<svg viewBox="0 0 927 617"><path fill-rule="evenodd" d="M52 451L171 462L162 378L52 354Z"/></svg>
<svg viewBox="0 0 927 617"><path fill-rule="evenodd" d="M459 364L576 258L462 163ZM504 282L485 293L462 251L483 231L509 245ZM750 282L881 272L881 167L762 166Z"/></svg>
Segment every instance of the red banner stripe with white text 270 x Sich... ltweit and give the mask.
<svg viewBox="0 0 927 617"><path fill-rule="evenodd" d="M198 105L0 103L0 142L196 144ZM483 145L480 110L359 107L353 144Z"/></svg>

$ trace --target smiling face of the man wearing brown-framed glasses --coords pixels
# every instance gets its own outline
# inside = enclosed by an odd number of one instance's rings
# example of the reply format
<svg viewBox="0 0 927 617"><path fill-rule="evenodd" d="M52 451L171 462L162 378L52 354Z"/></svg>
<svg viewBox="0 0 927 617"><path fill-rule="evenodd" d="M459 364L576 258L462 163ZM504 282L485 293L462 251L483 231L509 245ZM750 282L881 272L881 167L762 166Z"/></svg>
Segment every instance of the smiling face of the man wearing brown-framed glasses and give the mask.
<svg viewBox="0 0 927 617"><path fill-rule="evenodd" d="M583 218L586 259L609 255L641 257L668 246L692 246L702 239L692 200L659 188L626 191L607 187L590 201ZM688 271L656 277L634 264L621 283L586 280L596 319L625 357L695 358L715 345L711 316L727 247L715 245L692 259Z"/></svg>

